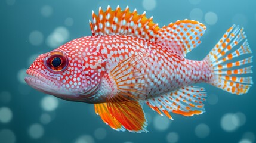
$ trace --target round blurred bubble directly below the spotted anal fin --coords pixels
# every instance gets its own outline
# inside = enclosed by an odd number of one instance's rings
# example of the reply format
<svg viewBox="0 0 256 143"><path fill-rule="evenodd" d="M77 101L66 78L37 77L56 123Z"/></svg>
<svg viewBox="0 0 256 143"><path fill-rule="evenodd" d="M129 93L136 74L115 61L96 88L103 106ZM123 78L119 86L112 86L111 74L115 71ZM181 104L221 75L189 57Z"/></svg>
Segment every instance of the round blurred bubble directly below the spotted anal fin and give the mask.
<svg viewBox="0 0 256 143"><path fill-rule="evenodd" d="M166 116L156 115L153 119L153 125L156 130L164 131L169 128L171 124L171 119Z"/></svg>

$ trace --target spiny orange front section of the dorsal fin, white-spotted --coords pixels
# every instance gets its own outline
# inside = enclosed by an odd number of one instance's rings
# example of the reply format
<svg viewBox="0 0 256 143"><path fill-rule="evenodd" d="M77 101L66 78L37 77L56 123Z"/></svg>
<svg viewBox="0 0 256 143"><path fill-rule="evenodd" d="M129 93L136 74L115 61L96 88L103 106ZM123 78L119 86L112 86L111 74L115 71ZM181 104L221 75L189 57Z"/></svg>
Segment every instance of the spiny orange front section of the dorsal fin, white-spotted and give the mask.
<svg viewBox="0 0 256 143"><path fill-rule="evenodd" d="M131 12L128 7L124 11L119 6L116 10L108 6L106 11L100 7L98 15L92 11L92 36L130 35L155 41L155 35L159 30L158 24L153 23L153 17L147 18L145 14L144 12L139 15L136 9Z"/></svg>

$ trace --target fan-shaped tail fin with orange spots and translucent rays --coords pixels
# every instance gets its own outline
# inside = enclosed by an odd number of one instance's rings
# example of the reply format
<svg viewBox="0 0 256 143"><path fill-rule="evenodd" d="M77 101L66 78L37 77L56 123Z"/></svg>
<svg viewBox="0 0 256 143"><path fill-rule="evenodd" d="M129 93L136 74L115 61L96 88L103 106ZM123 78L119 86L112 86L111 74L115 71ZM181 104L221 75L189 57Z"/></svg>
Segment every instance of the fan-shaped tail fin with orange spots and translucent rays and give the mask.
<svg viewBox="0 0 256 143"><path fill-rule="evenodd" d="M205 58L213 73L211 85L232 94L248 92L252 85L252 77L245 74L252 73L252 56L243 58L242 55L250 53L252 51L243 29L235 25L230 27Z"/></svg>

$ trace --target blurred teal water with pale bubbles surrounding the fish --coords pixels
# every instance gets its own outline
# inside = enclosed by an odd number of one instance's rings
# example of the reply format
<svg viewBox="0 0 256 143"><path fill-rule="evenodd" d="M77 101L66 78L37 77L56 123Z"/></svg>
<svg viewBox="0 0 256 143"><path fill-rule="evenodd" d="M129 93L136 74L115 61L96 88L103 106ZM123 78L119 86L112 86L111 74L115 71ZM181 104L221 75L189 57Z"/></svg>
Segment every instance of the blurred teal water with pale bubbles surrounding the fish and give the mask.
<svg viewBox="0 0 256 143"><path fill-rule="evenodd" d="M206 24L202 43L187 55L201 60L232 24L245 27L254 54L256 2L234 1L0 1L0 142L240 142L255 141L254 86L236 96L202 84L209 96L206 113L173 121L148 107L148 133L116 132L95 115L92 104L60 100L24 84L37 55L81 36L91 35L91 11L111 5L137 8L159 26L192 18ZM254 56L255 58L255 56ZM254 59L254 61L256 61ZM255 62L254 62L255 66ZM255 76L254 76L255 80ZM211 97L212 95L212 97Z"/></svg>

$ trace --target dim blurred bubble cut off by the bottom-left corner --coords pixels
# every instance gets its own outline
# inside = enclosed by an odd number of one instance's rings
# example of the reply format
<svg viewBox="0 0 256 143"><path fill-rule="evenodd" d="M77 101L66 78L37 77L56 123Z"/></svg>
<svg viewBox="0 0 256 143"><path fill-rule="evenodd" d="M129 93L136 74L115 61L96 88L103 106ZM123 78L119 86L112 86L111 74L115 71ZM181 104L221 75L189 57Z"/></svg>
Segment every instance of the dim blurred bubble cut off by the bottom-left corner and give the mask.
<svg viewBox="0 0 256 143"><path fill-rule="evenodd" d="M0 131L0 142L1 143L14 143L16 136L10 129L2 129Z"/></svg>

